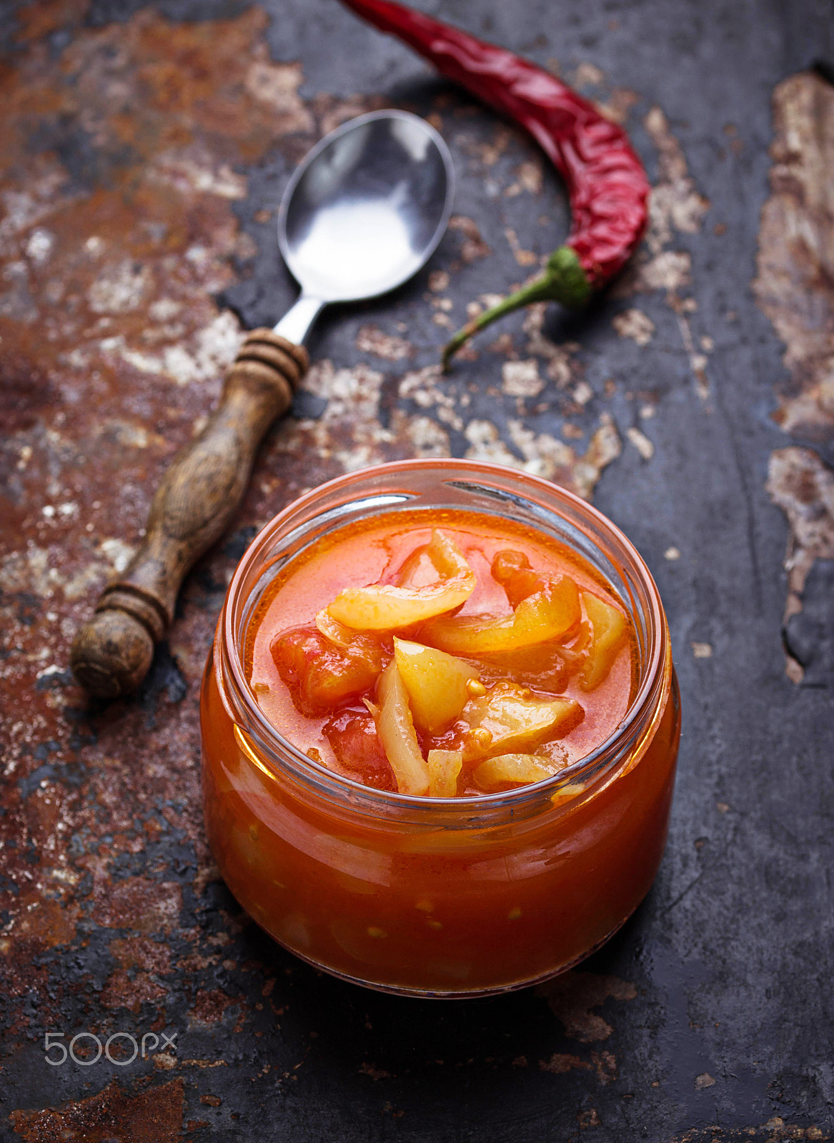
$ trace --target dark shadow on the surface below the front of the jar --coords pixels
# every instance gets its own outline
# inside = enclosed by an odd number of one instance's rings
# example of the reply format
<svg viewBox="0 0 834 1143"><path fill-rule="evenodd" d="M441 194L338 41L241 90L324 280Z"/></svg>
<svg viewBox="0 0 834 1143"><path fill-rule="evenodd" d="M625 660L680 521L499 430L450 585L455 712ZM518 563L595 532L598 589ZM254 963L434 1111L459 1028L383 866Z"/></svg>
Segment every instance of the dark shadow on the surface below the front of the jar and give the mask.
<svg viewBox="0 0 834 1143"><path fill-rule="evenodd" d="M462 1096L477 1098L478 1119L499 1125L525 1101L540 1105L531 1088L575 1111L615 1079L617 1023L623 1002L638 996L628 977L646 909L644 902L599 950L553 981L471 1000L398 997L340 981L254 924L239 940L241 952L275 973L280 1038L303 1054L308 1081L311 1071L368 1106L411 1111L421 1125L443 1122Z"/></svg>

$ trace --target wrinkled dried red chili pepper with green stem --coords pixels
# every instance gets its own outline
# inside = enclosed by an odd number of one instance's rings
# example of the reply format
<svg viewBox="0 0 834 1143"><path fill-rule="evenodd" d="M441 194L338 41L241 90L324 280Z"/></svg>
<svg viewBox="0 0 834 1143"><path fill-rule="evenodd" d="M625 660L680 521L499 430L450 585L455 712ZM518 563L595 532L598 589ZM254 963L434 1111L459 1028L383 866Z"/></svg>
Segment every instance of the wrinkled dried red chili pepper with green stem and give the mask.
<svg viewBox="0 0 834 1143"><path fill-rule="evenodd" d="M399 37L448 79L525 127L567 185L572 226L541 277L469 321L444 365L476 330L531 302L582 305L630 257L645 229L649 179L628 136L549 72L505 48L390 0L342 0Z"/></svg>

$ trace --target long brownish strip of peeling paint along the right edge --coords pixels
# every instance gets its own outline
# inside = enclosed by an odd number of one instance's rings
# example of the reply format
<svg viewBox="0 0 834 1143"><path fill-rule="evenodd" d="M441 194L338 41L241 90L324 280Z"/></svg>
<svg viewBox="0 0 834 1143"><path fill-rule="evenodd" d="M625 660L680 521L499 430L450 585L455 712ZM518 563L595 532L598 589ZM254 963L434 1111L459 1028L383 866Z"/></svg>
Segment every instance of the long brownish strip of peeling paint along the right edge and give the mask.
<svg viewBox="0 0 834 1143"><path fill-rule="evenodd" d="M789 384L773 419L805 440L834 438L834 88L810 72L773 90L771 194L758 230L756 301L785 344ZM788 593L783 617L786 672L799 684L804 664L788 624L803 610L805 582L816 560L834 558L834 473L808 448L777 449L768 493L785 512Z"/></svg>

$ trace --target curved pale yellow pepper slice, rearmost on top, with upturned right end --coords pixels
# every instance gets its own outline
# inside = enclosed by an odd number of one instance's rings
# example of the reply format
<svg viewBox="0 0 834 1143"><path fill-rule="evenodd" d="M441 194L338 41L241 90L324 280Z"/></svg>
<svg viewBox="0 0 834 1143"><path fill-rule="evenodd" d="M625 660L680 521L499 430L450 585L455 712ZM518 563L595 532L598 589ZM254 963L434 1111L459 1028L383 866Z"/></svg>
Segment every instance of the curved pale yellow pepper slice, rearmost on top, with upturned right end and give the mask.
<svg viewBox="0 0 834 1143"><path fill-rule="evenodd" d="M460 607L475 590L475 573L454 541L439 529L431 534L428 554L440 576L437 583L345 588L328 605L328 615L355 631L396 631Z"/></svg>

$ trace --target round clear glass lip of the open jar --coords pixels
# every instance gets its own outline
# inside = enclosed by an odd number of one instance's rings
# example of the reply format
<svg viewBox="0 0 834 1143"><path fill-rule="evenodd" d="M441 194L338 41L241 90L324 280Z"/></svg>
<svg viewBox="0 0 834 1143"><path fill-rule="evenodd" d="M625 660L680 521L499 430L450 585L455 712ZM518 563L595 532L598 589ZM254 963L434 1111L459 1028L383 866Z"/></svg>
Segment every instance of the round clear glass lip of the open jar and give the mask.
<svg viewBox="0 0 834 1143"><path fill-rule="evenodd" d="M595 750L541 782L530 783L518 786L515 790L506 790L499 793L470 794L454 798L428 798L396 791L378 790L373 786L364 785L360 782L331 770L324 764L313 761L294 746L263 714L246 682L244 664L236 638L233 609L230 604L240 596L241 584L249 568L262 554L264 546L271 541L275 529L283 521L303 511L317 499L324 498L328 494L339 493L342 489L350 489L365 478L405 475L414 470L421 472L444 472L446 474L448 474L450 470L453 470L453 472L461 475L466 473L470 477L492 478L499 482L507 481L509 478L524 485L531 491L538 491L548 501L556 499L563 502L565 506L569 506L573 511L574 515L579 518L585 517L589 521L593 521L605 533L607 538L614 542L618 547L618 555L623 558L623 562L632 565L638 573L643 584L649 589L646 596L650 605L649 615L651 618L650 631L652 638L649 654L643 661L642 678L637 693L632 700L625 717L612 734L596 746ZM240 729L251 734L256 726L257 732L260 732L256 735L257 738L265 740L264 745L270 750L277 748L281 753L287 754L292 759L293 773L317 786L319 792L329 796L341 793L351 798L359 797L366 802L371 805L376 804L380 807L419 810L427 817L432 812L443 813L444 810L455 810L459 814L472 814L474 812L483 814L490 809L516 809L531 801L540 801L542 794L551 796L562 786L596 776L610 759L615 744L622 742L623 738L630 742L632 738L636 740L640 736L643 725L641 716L651 714L654 706L651 700L658 692L659 685L661 686L664 681L664 665L668 655L669 644L666 616L654 578L643 557L615 523L609 520L606 515L588 503L588 501L542 477L525 472L523 469L513 469L508 465L495 464L489 461L469 461L460 457L418 457L356 469L333 480L328 480L324 485L318 485L316 488L303 493L296 499L292 501L292 503L287 504L286 507L261 528L241 557L229 583L223 602L219 633L221 631L223 636L223 650L225 653L224 665L228 668L228 673L224 671L224 676L227 684L231 684L236 693L235 697L237 702L233 704L236 713L245 713L252 720L249 726L243 726ZM254 726L252 725L253 722ZM271 768L275 768L271 758L267 758L263 761Z"/></svg>

